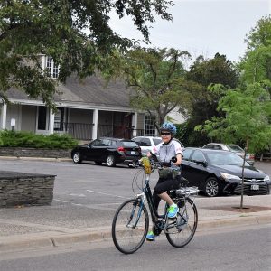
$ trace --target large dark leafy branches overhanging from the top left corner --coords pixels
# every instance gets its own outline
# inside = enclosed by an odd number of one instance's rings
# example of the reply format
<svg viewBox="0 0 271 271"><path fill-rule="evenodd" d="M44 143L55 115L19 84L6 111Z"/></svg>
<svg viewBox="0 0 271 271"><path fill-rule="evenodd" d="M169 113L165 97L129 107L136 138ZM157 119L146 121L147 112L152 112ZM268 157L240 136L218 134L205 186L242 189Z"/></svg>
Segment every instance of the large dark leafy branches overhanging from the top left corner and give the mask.
<svg viewBox="0 0 271 271"><path fill-rule="evenodd" d="M0 4L0 98L15 87L31 98L51 105L55 80L42 70L39 54L51 56L61 67L59 81L75 72L79 78L107 69L106 60L116 48L133 42L110 28L109 13L131 16L149 42L148 23L154 14L171 20L172 1L128 0L2 0ZM87 33L88 31L88 33Z"/></svg>

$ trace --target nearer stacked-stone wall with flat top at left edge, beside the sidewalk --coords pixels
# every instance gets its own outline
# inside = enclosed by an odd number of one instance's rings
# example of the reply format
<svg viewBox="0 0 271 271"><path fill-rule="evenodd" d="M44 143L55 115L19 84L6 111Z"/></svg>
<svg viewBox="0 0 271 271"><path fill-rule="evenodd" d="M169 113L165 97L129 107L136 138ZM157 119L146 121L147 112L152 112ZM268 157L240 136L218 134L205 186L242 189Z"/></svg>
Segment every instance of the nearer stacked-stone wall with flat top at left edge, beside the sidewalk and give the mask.
<svg viewBox="0 0 271 271"><path fill-rule="evenodd" d="M0 208L51 203L54 179L55 175L0 171Z"/></svg>

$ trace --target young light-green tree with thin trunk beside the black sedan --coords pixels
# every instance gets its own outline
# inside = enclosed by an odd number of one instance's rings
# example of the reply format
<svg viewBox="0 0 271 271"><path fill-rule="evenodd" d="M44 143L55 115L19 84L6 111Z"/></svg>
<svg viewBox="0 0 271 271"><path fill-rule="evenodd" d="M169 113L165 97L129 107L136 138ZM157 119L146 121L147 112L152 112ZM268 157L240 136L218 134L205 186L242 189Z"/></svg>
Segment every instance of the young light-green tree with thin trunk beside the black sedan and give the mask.
<svg viewBox="0 0 271 271"><path fill-rule="evenodd" d="M270 87L270 85L269 85ZM218 110L225 117L212 117L203 126L197 126L210 137L226 144L245 142L245 155L242 170L242 190L240 207L243 208L244 164L248 151L255 153L270 144L271 102L266 85L248 84L245 90L231 89L220 98Z"/></svg>

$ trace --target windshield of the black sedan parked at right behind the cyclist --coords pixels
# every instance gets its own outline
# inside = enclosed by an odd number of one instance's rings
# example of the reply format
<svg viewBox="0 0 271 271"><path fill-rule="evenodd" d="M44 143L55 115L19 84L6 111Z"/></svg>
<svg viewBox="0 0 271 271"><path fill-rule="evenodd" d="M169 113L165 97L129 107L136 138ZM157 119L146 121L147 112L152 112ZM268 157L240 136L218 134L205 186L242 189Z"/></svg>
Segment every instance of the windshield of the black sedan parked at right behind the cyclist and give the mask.
<svg viewBox="0 0 271 271"><path fill-rule="evenodd" d="M238 156L238 154L228 153L228 152L210 152L206 153L210 161L210 164L230 164L230 165L242 165L243 158ZM245 165L249 165L245 162Z"/></svg>

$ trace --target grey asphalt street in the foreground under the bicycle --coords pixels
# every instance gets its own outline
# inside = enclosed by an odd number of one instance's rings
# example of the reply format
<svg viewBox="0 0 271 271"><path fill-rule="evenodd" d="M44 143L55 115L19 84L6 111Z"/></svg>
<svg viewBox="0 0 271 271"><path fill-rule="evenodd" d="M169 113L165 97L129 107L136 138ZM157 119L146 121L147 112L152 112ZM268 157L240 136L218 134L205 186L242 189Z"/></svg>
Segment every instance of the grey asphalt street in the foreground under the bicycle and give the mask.
<svg viewBox="0 0 271 271"><path fill-rule="evenodd" d="M173 248L164 237L123 255L111 241L70 248L46 248L0 254L5 271L69 270L270 270L270 225L216 229L196 233L185 248ZM30 256L31 255L31 256ZM2 260L1 260L2 259Z"/></svg>

